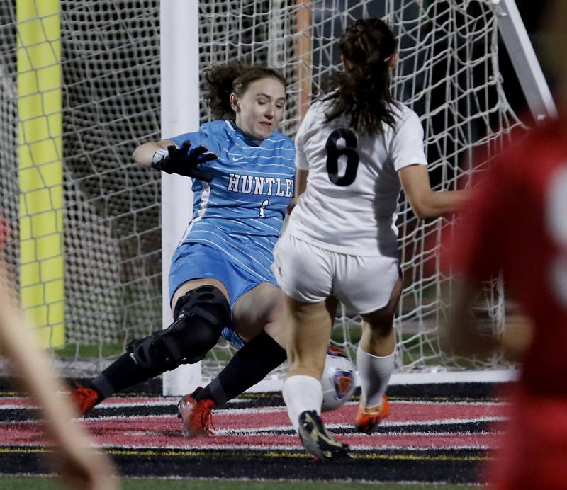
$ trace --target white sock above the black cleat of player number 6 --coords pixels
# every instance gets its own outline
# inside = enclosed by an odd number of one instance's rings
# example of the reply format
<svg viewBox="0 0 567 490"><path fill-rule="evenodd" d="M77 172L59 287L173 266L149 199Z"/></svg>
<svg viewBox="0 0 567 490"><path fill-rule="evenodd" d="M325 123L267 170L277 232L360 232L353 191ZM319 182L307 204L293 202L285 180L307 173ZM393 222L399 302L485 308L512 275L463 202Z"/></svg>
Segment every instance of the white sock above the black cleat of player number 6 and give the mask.
<svg viewBox="0 0 567 490"><path fill-rule="evenodd" d="M321 382L313 376L296 375L283 382L283 401L288 407L289 420L296 432L299 428L299 416L305 410L321 413L323 389Z"/></svg>

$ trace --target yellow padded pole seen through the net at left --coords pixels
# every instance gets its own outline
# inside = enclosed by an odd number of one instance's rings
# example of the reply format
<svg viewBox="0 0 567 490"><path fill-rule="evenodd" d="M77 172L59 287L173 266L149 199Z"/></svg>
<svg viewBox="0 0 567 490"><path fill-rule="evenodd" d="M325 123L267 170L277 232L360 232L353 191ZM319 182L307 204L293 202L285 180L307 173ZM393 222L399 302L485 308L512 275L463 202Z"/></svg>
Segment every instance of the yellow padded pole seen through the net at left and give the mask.
<svg viewBox="0 0 567 490"><path fill-rule="evenodd" d="M45 347L64 343L59 0L16 0L21 306Z"/></svg>

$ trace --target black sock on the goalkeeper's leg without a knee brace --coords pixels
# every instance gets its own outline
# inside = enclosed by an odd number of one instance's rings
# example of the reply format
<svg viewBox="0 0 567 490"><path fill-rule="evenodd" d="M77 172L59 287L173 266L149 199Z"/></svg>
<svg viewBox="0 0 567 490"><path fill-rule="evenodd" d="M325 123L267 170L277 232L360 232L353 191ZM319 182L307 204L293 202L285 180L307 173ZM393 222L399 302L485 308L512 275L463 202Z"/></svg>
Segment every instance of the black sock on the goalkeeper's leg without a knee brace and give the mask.
<svg viewBox="0 0 567 490"><path fill-rule="evenodd" d="M212 399L222 405L254 386L286 360L286 350L261 331L232 357L225 368L195 399Z"/></svg>

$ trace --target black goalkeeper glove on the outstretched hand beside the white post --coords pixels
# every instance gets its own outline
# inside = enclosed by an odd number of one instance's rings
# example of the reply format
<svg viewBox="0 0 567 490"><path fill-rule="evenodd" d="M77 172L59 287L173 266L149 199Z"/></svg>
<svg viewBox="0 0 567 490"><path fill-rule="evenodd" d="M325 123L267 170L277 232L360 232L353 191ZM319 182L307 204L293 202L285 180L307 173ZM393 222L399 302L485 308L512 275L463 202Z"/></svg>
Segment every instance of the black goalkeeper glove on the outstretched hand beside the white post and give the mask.
<svg viewBox="0 0 567 490"><path fill-rule="evenodd" d="M210 182L213 177L210 173L199 170L197 165L218 158L214 153L206 153L208 150L202 145L190 149L191 143L184 141L180 148L170 144L167 149L162 148L155 152L152 157L152 167L166 173L177 173L178 175L197 178L200 181Z"/></svg>

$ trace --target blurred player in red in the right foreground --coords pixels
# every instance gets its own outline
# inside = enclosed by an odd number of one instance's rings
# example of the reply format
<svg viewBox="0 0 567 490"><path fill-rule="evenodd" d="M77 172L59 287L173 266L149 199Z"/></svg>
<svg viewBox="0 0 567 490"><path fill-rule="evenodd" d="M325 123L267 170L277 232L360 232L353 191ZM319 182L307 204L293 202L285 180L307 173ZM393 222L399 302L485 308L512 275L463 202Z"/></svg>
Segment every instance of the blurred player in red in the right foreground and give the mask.
<svg viewBox="0 0 567 490"><path fill-rule="evenodd" d="M504 338L481 336L469 321L478 285L499 271L534 326L503 446L488 471L498 490L567 489L567 2L555 1L548 15L560 117L486 172L453 244L464 282L448 329L452 348L506 350Z"/></svg>

